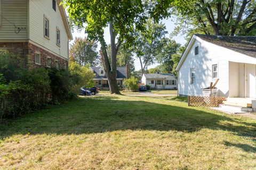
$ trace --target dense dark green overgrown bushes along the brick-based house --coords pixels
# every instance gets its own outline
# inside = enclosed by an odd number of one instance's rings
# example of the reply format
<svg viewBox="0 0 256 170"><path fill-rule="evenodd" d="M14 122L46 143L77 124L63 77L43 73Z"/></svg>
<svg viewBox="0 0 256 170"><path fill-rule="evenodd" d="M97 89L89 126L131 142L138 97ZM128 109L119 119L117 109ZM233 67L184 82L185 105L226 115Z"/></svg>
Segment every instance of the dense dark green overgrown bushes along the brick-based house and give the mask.
<svg viewBox="0 0 256 170"><path fill-rule="evenodd" d="M93 75L86 69L26 69L17 56L1 54L0 58L0 121L72 99L75 88L89 85L91 77L84 78Z"/></svg>

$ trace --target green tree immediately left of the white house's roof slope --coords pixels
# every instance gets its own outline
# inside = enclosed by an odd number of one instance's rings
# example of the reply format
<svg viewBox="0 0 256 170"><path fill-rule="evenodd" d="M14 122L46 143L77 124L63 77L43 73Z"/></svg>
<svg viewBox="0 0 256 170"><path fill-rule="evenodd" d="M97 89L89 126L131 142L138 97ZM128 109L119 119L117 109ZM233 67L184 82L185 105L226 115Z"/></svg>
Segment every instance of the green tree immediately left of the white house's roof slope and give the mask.
<svg viewBox="0 0 256 170"><path fill-rule="evenodd" d="M164 68L167 73L171 73L173 69L172 56L177 52L180 44L170 38L163 38L162 41L163 46L156 56L156 61L162 65L162 68Z"/></svg>

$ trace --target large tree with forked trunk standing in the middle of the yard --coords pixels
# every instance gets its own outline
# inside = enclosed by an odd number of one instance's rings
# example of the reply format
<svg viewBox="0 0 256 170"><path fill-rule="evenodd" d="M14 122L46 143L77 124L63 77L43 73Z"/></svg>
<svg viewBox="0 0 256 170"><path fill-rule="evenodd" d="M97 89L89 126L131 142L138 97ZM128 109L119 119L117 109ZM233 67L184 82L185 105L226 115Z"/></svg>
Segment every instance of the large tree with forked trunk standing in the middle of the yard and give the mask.
<svg viewBox="0 0 256 170"><path fill-rule="evenodd" d="M69 19L78 28L84 28L88 37L101 44L100 56L108 78L110 93L120 94L117 86L117 52L123 42L130 45L134 32L143 31L147 20L145 3L141 1L101 1L101 0L66 0ZM109 26L111 61L107 54L107 44L103 37L104 28ZM117 40L117 43L116 43Z"/></svg>

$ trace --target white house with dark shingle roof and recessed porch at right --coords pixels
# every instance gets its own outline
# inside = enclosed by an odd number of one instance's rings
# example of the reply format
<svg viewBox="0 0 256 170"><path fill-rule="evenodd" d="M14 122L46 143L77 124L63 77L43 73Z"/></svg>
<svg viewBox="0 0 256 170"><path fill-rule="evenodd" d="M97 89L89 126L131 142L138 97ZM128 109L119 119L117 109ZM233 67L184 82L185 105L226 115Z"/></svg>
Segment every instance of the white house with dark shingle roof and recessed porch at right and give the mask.
<svg viewBox="0 0 256 170"><path fill-rule="evenodd" d="M183 96L202 96L217 84L217 96L256 98L256 37L194 35L177 66Z"/></svg>

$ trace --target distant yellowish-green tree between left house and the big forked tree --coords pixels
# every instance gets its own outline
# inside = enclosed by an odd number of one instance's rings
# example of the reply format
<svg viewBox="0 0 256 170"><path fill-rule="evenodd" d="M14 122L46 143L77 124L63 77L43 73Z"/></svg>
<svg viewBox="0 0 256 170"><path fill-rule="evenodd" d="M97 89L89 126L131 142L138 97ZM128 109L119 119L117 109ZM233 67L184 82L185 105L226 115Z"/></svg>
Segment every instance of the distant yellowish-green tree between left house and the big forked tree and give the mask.
<svg viewBox="0 0 256 170"><path fill-rule="evenodd" d="M96 66L100 62L97 47L96 41L76 37L74 43L70 46L70 58L82 66L86 64Z"/></svg>

